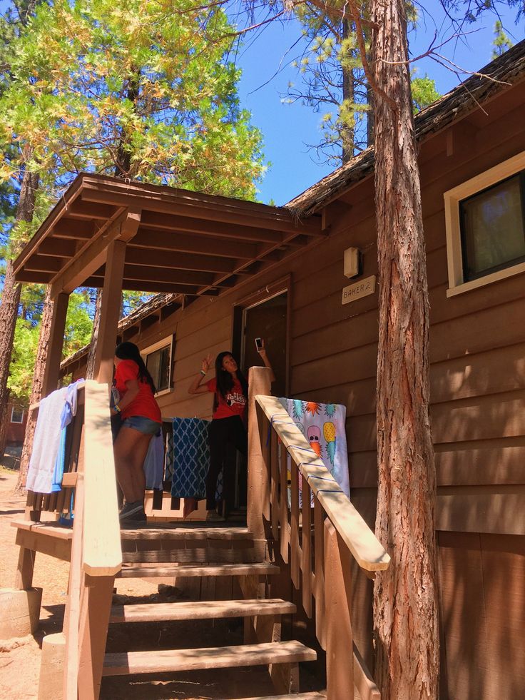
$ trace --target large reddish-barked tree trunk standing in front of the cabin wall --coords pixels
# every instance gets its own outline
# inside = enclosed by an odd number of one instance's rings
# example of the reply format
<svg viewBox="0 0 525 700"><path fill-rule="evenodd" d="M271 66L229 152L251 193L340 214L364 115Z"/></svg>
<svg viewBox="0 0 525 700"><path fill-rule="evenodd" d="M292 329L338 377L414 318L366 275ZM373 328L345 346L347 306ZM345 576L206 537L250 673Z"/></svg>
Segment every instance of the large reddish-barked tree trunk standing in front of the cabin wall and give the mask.
<svg viewBox="0 0 525 700"><path fill-rule="evenodd" d="M372 0L379 258L376 534L392 557L374 584L383 700L435 700L439 634L429 303L403 0ZM383 91L383 94L381 93ZM384 94L390 98L385 98Z"/></svg>

